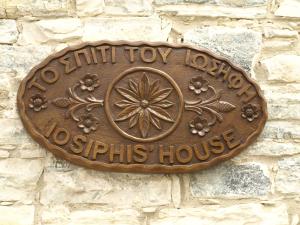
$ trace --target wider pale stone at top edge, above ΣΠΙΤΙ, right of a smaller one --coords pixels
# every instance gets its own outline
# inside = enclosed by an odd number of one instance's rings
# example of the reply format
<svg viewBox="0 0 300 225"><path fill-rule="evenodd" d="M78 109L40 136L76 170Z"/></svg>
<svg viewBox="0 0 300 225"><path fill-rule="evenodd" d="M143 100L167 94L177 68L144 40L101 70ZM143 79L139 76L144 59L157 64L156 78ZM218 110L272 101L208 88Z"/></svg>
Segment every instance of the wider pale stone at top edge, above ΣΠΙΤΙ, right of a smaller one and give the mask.
<svg viewBox="0 0 300 225"><path fill-rule="evenodd" d="M108 15L149 16L152 14L151 0L105 0Z"/></svg>

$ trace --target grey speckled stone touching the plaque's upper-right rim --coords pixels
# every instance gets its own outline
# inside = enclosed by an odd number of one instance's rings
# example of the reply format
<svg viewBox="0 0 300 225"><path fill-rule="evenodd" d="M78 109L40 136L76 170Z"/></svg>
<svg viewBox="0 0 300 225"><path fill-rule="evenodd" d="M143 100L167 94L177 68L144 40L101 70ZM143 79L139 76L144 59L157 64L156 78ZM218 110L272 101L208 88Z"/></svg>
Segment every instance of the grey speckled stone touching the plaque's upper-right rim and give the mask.
<svg viewBox="0 0 300 225"><path fill-rule="evenodd" d="M261 46L261 34L244 28L205 27L187 31L184 41L228 57L250 71Z"/></svg>

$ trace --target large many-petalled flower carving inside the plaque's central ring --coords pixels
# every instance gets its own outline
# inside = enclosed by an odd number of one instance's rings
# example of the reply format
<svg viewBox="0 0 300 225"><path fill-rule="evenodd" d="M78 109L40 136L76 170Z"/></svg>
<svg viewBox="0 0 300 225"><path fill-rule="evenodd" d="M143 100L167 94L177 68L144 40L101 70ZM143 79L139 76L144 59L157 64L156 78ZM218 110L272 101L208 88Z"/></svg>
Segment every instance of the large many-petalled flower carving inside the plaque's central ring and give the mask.
<svg viewBox="0 0 300 225"><path fill-rule="evenodd" d="M129 128L138 125L143 138L148 136L150 124L161 130L161 120L174 123L166 110L174 105L167 100L173 88L160 88L159 80L150 82L145 72L139 82L130 79L128 88L118 87L116 91L124 99L115 103L122 109L115 121L129 120Z"/></svg>

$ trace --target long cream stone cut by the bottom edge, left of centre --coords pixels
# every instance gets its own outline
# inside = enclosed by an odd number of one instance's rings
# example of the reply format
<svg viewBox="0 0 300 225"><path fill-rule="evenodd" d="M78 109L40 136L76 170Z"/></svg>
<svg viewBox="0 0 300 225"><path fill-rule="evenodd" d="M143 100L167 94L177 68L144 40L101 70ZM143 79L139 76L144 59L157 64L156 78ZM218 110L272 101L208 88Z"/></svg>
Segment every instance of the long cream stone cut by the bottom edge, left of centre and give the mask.
<svg viewBox="0 0 300 225"><path fill-rule="evenodd" d="M123 210L103 210L75 209L70 210L62 205L54 207L44 207L42 210L41 222L44 225L140 225L141 216L133 209Z"/></svg>

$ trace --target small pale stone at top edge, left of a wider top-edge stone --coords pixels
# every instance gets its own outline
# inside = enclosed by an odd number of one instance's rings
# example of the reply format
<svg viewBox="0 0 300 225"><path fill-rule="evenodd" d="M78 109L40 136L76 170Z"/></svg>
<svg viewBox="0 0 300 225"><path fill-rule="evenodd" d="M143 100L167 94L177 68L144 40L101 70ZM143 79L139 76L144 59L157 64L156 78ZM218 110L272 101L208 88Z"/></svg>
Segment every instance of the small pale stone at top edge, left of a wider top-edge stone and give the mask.
<svg viewBox="0 0 300 225"><path fill-rule="evenodd" d="M104 0L76 0L78 16L97 16L104 11Z"/></svg>

